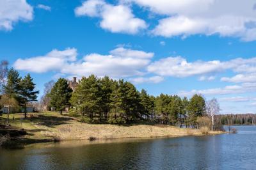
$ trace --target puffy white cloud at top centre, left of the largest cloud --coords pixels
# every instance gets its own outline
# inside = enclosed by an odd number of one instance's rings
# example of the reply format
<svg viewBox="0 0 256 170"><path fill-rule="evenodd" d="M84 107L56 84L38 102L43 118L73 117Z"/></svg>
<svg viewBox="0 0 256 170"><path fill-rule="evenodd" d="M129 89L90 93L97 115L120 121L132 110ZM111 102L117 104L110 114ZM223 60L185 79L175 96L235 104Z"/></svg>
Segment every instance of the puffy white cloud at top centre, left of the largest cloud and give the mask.
<svg viewBox="0 0 256 170"><path fill-rule="evenodd" d="M146 29L144 20L136 18L129 6L112 5L105 1L88 0L75 9L77 16L100 17L100 27L112 33L136 34Z"/></svg>

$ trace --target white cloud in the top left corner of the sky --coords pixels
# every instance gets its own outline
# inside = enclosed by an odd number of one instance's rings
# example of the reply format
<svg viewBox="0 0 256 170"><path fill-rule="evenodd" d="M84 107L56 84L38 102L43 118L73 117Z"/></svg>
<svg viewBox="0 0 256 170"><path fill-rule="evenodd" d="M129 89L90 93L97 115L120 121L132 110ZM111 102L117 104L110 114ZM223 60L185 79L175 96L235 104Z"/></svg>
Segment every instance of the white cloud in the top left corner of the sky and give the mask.
<svg viewBox="0 0 256 170"><path fill-rule="evenodd" d="M10 31L13 24L18 21L33 19L33 7L26 0L1 0L0 1L0 30Z"/></svg>

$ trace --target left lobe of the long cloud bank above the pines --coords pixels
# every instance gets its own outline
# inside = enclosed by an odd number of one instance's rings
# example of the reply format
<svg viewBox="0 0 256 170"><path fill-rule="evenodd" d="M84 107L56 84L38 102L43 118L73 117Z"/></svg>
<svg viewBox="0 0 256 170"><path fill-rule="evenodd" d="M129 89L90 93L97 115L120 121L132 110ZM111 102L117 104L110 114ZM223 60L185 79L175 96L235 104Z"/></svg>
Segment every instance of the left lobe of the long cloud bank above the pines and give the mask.
<svg viewBox="0 0 256 170"><path fill-rule="evenodd" d="M76 49L52 50L45 56L37 56L27 59L17 59L14 67L18 70L43 73L52 70L60 70L68 61L76 61Z"/></svg>

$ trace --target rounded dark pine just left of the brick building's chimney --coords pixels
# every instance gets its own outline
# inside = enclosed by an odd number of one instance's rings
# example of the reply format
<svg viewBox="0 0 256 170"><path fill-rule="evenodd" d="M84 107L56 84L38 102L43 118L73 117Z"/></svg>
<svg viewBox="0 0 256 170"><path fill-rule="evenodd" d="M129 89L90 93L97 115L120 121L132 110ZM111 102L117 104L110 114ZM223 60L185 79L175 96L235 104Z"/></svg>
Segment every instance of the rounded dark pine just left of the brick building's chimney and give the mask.
<svg viewBox="0 0 256 170"><path fill-rule="evenodd" d="M67 80L63 78L58 79L49 94L51 107L62 114L63 109L70 106L71 95L72 89L68 86Z"/></svg>

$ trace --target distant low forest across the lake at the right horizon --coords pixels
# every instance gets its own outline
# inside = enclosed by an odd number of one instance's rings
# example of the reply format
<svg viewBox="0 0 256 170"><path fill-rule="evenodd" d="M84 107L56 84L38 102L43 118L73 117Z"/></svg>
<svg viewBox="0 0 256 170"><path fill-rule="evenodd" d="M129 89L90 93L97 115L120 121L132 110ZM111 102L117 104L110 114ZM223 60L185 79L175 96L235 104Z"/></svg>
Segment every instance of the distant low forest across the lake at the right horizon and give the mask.
<svg viewBox="0 0 256 170"><path fill-rule="evenodd" d="M219 114L216 120L222 125L256 125L256 114Z"/></svg>

